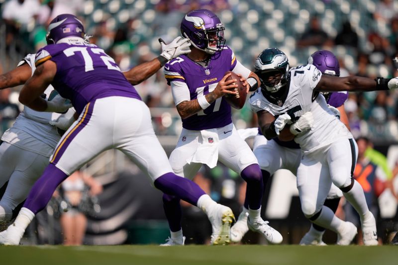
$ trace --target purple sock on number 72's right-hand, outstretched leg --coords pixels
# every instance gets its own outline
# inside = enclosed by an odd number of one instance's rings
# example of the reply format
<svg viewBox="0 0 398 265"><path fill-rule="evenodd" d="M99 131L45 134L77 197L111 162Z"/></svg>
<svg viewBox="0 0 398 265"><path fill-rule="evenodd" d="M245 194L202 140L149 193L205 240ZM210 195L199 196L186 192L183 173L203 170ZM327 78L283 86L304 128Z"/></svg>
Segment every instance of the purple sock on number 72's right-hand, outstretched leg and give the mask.
<svg viewBox="0 0 398 265"><path fill-rule="evenodd" d="M195 206L199 197L206 194L197 183L171 172L156 178L153 184L163 193L177 196Z"/></svg>

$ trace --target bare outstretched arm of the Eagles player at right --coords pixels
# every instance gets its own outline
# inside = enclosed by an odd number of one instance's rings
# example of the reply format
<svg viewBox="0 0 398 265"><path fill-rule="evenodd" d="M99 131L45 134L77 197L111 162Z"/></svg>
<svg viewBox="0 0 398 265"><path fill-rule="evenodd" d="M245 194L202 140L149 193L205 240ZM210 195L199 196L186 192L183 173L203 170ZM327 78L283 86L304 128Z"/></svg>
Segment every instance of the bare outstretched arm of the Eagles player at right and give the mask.
<svg viewBox="0 0 398 265"><path fill-rule="evenodd" d="M389 81L390 79L384 78L373 80L366 77L332 77L324 75L316 85L315 90L321 92L388 90L387 84Z"/></svg>

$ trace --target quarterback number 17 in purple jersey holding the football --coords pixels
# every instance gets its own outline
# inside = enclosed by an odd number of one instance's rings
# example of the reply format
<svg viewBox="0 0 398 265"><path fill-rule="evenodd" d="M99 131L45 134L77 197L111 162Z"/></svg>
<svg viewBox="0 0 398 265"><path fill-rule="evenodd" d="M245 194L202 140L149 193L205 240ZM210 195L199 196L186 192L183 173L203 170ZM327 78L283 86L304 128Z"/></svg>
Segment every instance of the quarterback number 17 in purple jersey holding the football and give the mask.
<svg viewBox="0 0 398 265"><path fill-rule="evenodd" d="M282 235L260 217L263 182L253 152L242 140L231 120L231 107L223 95L234 93L236 80L225 82L232 71L257 88L258 77L242 66L232 50L224 45L224 26L211 11L197 9L181 22L181 33L190 39L192 52L171 60L164 67L172 87L174 102L183 121L177 146L170 155L174 172L192 179L202 164L215 167L217 160L239 173L247 181L250 229L262 234L269 242L279 244ZM224 76L225 75L225 76ZM171 238L165 245L183 245L180 198L164 194L164 209L169 221ZM215 238L211 238L214 243ZM229 242L224 234L222 242Z"/></svg>

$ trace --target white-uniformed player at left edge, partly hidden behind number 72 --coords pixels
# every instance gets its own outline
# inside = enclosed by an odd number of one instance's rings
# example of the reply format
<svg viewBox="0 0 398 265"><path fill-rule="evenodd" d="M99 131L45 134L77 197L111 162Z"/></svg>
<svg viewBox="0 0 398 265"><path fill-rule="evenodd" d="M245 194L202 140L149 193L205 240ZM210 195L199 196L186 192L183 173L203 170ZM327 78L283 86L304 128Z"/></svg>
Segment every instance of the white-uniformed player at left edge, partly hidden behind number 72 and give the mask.
<svg viewBox="0 0 398 265"><path fill-rule="evenodd" d="M1 75L0 89L24 84L36 69L34 60L35 54L28 54L14 70ZM49 86L43 95L47 100L63 100L52 86ZM59 120L63 120L63 126L59 126L67 129L65 126L73 120L74 113L73 109L62 115L55 112L39 112L25 106L12 127L3 133L3 142L0 145L0 186L6 181L8 184L0 200L1 222L11 220L15 207L26 199L30 188L43 173L61 139L57 128L50 123L58 125Z"/></svg>

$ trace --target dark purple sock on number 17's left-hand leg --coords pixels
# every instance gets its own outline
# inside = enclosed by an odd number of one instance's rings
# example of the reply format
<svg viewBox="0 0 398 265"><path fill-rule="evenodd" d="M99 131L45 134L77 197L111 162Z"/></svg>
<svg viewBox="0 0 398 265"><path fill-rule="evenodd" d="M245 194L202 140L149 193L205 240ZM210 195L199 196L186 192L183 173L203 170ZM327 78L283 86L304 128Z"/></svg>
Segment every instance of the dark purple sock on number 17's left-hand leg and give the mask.
<svg viewBox="0 0 398 265"><path fill-rule="evenodd" d="M181 205L180 198L164 193L163 209L165 210L167 221L172 232L181 230Z"/></svg>

